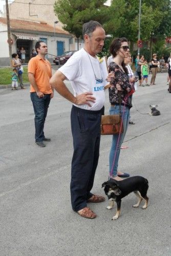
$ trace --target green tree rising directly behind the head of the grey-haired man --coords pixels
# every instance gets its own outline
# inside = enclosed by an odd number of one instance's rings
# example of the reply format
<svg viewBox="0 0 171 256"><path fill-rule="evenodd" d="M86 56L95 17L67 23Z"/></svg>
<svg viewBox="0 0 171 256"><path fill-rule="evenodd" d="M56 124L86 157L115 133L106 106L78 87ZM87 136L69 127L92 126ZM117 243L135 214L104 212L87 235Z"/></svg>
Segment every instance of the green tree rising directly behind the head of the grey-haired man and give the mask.
<svg viewBox="0 0 171 256"><path fill-rule="evenodd" d="M83 23L96 20L103 24L109 19L109 8L103 4L106 0L58 0L54 5L54 12L58 15L63 29L82 36Z"/></svg>

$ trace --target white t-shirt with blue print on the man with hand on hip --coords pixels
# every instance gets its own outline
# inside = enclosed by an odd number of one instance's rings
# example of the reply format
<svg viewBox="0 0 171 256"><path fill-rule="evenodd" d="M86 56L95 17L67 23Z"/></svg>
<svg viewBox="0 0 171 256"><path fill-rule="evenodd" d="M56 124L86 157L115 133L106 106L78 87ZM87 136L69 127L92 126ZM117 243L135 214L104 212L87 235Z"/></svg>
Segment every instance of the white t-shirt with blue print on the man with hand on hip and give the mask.
<svg viewBox="0 0 171 256"><path fill-rule="evenodd" d="M83 48L74 53L59 71L71 81L74 96L84 92L92 92L96 100L87 104L75 105L78 108L86 110L100 110L105 101L104 87L108 76L105 60L100 61L98 57L94 58ZM95 79L102 79L97 81Z"/></svg>

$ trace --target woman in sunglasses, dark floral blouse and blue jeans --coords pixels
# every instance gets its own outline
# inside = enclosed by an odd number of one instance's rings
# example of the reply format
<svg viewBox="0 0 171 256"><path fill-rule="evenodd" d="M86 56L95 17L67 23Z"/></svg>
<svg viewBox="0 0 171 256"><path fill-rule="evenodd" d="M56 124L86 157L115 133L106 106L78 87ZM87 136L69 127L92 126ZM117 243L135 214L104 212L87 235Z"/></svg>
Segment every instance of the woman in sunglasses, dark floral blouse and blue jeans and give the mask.
<svg viewBox="0 0 171 256"><path fill-rule="evenodd" d="M114 61L111 62L109 66L109 80L111 82L111 87L109 88L109 99L111 103L110 115L121 114L121 118L123 118L123 133L120 137L119 135L113 135L109 156L109 177L110 179L122 180L121 178L130 176L127 173L118 172L118 160L121 144L125 137L130 119L133 82L136 81L137 78L134 77L134 81L130 83L128 75L129 72L125 67L124 59L130 55L130 49L126 38L122 37L114 39L110 46L110 52L114 57Z"/></svg>

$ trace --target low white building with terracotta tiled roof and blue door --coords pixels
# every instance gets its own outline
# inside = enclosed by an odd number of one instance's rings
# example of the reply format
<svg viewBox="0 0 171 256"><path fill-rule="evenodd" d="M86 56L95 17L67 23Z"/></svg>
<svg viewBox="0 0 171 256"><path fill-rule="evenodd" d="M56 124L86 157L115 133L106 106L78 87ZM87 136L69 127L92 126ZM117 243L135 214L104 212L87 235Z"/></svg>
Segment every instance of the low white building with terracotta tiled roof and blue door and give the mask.
<svg viewBox="0 0 171 256"><path fill-rule="evenodd" d="M67 31L43 22L28 22L26 20L10 19L12 53L17 53L17 48L26 50L26 62L29 61L37 40L45 41L48 46L48 58L61 55L71 50L73 36ZM0 66L9 65L9 48L6 18L0 18Z"/></svg>

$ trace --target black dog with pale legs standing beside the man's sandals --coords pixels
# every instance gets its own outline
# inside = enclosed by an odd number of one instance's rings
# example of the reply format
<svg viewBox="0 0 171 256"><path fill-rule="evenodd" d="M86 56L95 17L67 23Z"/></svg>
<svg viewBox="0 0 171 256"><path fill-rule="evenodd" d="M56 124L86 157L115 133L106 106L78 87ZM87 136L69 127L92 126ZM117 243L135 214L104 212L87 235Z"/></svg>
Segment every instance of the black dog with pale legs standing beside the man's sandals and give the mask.
<svg viewBox="0 0 171 256"><path fill-rule="evenodd" d="M142 199L145 200L145 204L142 206L142 209L146 209L147 207L148 197L146 194L148 190L148 181L141 176L134 176L121 181L112 179L104 182L102 187L104 187L104 193L106 196L108 196L110 201L109 206L106 208L112 209L114 202L117 203L116 215L112 218L112 220L117 220L119 218L121 199L131 192L134 192L138 197L138 203L134 204L133 207L138 207Z"/></svg>

